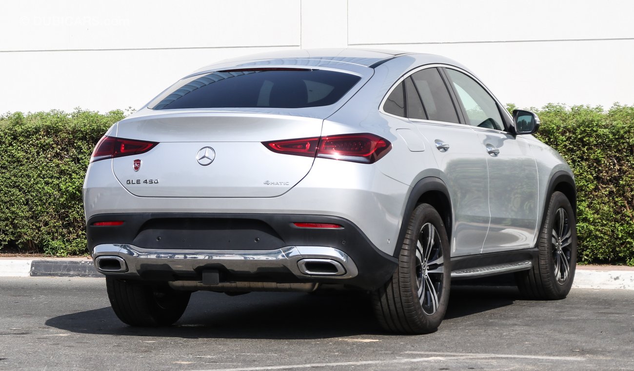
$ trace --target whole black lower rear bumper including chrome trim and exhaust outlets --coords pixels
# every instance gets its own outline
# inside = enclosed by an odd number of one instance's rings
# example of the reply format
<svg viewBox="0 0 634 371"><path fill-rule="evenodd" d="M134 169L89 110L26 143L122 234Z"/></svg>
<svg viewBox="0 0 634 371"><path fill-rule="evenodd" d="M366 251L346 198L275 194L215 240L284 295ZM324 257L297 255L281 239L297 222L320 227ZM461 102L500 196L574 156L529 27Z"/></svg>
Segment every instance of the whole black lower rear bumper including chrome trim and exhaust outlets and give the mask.
<svg viewBox="0 0 634 371"><path fill-rule="evenodd" d="M94 225L107 220L124 223ZM341 228L297 228L293 221ZM351 222L334 216L100 214L89 220L87 237L95 266L105 275L197 282L198 286L186 285L196 289L223 291L245 282L342 283L376 289L397 264ZM205 282L211 283L200 285Z"/></svg>

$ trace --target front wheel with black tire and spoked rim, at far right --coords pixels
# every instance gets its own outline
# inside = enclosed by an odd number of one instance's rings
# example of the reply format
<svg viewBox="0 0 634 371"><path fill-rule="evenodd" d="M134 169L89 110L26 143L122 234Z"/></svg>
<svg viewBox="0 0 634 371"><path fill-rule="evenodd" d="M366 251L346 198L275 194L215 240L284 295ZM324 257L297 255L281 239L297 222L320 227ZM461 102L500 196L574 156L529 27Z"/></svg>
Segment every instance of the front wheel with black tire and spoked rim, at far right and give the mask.
<svg viewBox="0 0 634 371"><path fill-rule="evenodd" d="M532 299L563 299L573 285L577 231L573 207L561 192L550 197L537 248L533 268L516 275L519 289Z"/></svg>

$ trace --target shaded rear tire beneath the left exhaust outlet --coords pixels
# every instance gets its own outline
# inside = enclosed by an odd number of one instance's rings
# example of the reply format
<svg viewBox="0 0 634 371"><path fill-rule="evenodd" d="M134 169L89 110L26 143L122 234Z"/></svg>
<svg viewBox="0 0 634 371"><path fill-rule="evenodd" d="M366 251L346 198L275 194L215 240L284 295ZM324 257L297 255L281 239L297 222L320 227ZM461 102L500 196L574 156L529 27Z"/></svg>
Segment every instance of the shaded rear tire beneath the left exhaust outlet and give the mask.
<svg viewBox="0 0 634 371"><path fill-rule="evenodd" d="M178 321L190 301L190 292L167 284L149 285L106 277L108 298L119 319L131 326L168 326Z"/></svg>

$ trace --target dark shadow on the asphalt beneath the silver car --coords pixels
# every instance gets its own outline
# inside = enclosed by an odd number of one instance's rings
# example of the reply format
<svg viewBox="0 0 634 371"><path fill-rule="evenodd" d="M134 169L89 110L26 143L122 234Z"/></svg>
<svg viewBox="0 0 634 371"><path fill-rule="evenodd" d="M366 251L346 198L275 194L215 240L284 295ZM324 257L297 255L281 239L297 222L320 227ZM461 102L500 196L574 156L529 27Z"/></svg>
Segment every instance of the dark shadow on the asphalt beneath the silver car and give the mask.
<svg viewBox="0 0 634 371"><path fill-rule="evenodd" d="M446 320L512 304L515 287L455 287ZM56 329L80 334L181 337L184 339L328 339L384 335L364 292L314 294L252 292L226 296L195 292L183 317L169 327L130 327L105 307L56 316L46 321Z"/></svg>

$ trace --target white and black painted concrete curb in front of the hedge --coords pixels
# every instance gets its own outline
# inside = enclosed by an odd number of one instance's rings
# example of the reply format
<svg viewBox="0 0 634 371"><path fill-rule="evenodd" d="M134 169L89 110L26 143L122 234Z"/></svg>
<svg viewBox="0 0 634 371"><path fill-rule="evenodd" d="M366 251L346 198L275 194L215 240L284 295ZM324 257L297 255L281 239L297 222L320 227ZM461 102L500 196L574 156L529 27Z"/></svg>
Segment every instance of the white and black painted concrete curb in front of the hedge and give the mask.
<svg viewBox="0 0 634 371"><path fill-rule="evenodd" d="M91 259L0 257L0 277L104 277ZM634 267L577 266L573 287L634 290Z"/></svg>

